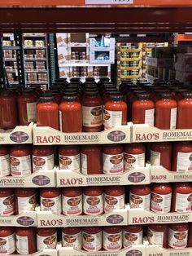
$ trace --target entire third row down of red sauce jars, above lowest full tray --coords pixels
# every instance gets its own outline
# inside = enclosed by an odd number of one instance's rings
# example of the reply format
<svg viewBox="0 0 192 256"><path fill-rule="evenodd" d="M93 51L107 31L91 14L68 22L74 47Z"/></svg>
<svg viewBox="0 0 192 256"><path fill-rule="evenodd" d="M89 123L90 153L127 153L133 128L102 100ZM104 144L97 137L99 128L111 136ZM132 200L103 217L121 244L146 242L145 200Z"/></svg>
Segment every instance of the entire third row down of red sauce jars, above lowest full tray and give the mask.
<svg viewBox="0 0 192 256"><path fill-rule="evenodd" d="M129 197L129 198L128 198ZM135 185L85 188L41 188L40 200L34 188L1 188L0 214L21 214L33 211L40 201L43 211L76 216L96 216L111 210L124 209L129 201L131 209L152 210L158 214L190 212L192 210L192 184L152 183ZM5 202L7 202L5 204Z"/></svg>

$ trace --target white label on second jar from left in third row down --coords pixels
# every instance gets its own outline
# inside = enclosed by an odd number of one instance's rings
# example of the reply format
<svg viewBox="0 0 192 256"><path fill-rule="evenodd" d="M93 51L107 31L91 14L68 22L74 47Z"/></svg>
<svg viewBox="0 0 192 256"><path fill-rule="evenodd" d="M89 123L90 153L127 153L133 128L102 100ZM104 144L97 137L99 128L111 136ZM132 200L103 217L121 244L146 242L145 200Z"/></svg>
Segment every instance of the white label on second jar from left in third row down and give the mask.
<svg viewBox="0 0 192 256"><path fill-rule="evenodd" d="M24 213L24 211L35 210L36 207L36 194L33 196L20 197L17 198L18 201L18 212L19 214Z"/></svg>

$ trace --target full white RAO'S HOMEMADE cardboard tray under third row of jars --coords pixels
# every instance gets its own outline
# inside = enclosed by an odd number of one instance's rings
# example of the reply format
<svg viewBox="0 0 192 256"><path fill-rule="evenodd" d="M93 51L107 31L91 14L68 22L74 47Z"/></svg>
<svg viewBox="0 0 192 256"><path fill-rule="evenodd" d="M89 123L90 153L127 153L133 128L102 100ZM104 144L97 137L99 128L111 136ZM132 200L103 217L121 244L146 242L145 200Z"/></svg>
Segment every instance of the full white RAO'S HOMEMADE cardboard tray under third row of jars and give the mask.
<svg viewBox="0 0 192 256"><path fill-rule="evenodd" d="M91 227L91 226L128 225L128 210L112 210L110 213L93 215L66 216L51 211L37 212L37 227Z"/></svg>

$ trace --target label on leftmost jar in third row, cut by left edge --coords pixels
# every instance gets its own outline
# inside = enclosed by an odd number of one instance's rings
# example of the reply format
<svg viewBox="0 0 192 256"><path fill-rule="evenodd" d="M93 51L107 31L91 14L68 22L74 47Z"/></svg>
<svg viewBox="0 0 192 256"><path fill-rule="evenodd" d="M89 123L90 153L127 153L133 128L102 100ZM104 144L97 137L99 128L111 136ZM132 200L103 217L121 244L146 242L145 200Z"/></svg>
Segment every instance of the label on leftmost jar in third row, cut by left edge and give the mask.
<svg viewBox="0 0 192 256"><path fill-rule="evenodd" d="M14 195L0 197L0 215L11 215L15 212Z"/></svg>

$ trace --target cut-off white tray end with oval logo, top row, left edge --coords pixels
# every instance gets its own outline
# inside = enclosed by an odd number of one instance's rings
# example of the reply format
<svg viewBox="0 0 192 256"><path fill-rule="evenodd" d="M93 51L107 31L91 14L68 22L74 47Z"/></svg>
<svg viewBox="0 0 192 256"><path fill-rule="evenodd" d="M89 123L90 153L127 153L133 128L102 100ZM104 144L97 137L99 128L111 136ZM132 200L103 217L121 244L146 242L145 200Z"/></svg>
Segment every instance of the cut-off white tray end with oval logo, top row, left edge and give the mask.
<svg viewBox="0 0 192 256"><path fill-rule="evenodd" d="M11 130L0 129L0 144L33 143L33 123L28 126L16 126Z"/></svg>

